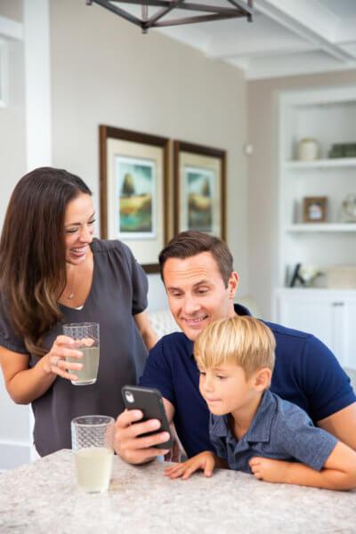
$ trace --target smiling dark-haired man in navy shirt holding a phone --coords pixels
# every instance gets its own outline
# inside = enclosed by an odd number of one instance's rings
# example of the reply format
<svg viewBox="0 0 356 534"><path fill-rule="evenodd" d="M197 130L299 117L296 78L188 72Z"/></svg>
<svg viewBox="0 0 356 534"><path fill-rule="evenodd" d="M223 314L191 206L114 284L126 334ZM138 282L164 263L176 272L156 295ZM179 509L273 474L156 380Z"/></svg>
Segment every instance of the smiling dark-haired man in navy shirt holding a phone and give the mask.
<svg viewBox="0 0 356 534"><path fill-rule="evenodd" d="M221 239L198 231L182 232L162 250L159 264L171 312L182 332L163 337L150 351L140 384L162 393L168 420L174 421L191 457L213 449L208 436L209 412L198 390L193 342L212 321L249 312L233 303L239 277ZM295 402L316 425L356 449L356 396L335 356L310 334L266 324L277 344L271 391ZM140 410L117 417L117 454L132 464L166 452L158 447L167 440L167 433L142 437L158 430L159 422L140 423L141 418Z"/></svg>

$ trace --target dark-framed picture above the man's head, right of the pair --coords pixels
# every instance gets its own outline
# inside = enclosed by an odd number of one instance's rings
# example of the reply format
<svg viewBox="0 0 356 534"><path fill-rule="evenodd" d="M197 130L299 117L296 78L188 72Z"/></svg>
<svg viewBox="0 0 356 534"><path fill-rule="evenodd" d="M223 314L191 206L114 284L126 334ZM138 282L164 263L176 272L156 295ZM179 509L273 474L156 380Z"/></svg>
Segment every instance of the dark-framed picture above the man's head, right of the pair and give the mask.
<svg viewBox="0 0 356 534"><path fill-rule="evenodd" d="M226 152L174 141L174 234L199 230L226 239Z"/></svg>

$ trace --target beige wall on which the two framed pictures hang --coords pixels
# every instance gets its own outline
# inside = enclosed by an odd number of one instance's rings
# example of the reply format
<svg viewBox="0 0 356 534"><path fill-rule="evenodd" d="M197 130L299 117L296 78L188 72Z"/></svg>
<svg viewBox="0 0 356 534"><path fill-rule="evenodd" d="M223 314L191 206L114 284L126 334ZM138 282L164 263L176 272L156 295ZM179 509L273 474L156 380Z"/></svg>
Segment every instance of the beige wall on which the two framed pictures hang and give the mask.
<svg viewBox="0 0 356 534"><path fill-rule="evenodd" d="M53 0L53 165L93 188L98 206L98 125L114 125L228 151L228 241L247 293L246 83L239 69L207 59L98 5ZM165 303L150 277L150 308ZM153 296L154 295L154 296Z"/></svg>

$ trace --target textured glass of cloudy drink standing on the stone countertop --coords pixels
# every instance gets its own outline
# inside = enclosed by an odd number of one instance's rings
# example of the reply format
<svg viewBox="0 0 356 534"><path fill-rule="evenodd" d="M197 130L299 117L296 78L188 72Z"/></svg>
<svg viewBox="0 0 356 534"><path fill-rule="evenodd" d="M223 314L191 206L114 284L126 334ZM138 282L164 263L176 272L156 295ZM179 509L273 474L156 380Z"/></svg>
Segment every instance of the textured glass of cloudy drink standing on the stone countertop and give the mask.
<svg viewBox="0 0 356 534"><path fill-rule="evenodd" d="M113 417L83 416L71 422L77 484L86 493L109 488L114 457Z"/></svg>

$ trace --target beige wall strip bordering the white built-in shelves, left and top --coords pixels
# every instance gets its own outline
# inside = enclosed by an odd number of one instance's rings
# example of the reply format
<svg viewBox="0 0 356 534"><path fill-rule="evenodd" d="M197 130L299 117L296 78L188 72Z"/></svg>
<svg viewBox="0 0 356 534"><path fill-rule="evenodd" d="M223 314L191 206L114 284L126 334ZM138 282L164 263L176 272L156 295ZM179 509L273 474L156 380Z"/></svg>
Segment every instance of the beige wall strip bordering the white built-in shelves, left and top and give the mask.
<svg viewBox="0 0 356 534"><path fill-rule="evenodd" d="M276 287L278 279L277 94L299 88L355 83L354 70L247 83L247 135L254 145L248 164L249 290L258 299L266 319L271 318L272 287Z"/></svg>

